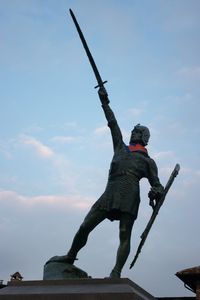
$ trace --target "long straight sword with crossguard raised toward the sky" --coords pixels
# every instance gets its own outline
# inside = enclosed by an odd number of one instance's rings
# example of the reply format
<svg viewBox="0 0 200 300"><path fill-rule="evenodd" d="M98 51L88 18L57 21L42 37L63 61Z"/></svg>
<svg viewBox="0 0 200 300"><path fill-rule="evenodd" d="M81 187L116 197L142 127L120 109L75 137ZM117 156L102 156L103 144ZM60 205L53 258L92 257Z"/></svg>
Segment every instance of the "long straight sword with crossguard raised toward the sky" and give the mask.
<svg viewBox="0 0 200 300"><path fill-rule="evenodd" d="M96 66L96 64L95 64L95 61L94 61L94 59L93 59L93 57L92 57L92 54L91 54L91 52L90 52L90 50L89 50L89 48L88 48L88 45L87 45L86 40L85 40L85 38L84 38L84 35L83 35L83 33L82 33L81 29L80 29L80 26L79 26L79 24L78 24L78 22L77 22L77 20L76 20L76 17L75 17L75 15L74 15L74 13L73 13L73 11L72 11L71 9L69 10L69 12L70 12L70 15L71 15L71 17L72 17L72 19L73 19L73 21L74 21L74 24L75 24L75 26L76 26L76 29L77 29L77 31L78 31L79 37L80 37L80 39L81 39L83 48L85 49L85 52L86 52L87 57L88 57L88 59L89 59L90 65L91 65L91 67L92 67L92 69L93 69L93 71L94 71L94 75L95 75L96 80L97 80L97 83L98 83L98 85L95 86L95 88L97 88L97 87L103 87L103 85L107 82L107 80L106 80L106 81L103 81L103 80L101 79L101 75L99 74L99 71L98 71L97 66Z"/></svg>

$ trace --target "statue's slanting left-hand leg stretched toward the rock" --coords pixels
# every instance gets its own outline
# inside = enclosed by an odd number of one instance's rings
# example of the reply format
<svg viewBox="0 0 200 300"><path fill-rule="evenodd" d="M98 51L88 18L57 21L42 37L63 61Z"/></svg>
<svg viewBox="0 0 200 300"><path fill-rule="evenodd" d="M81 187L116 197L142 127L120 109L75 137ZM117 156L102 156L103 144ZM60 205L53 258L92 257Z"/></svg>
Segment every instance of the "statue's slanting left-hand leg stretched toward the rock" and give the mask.
<svg viewBox="0 0 200 300"><path fill-rule="evenodd" d="M91 209L76 233L71 248L67 254L67 262L73 264L76 255L87 242L89 233L106 218L106 211Z"/></svg>

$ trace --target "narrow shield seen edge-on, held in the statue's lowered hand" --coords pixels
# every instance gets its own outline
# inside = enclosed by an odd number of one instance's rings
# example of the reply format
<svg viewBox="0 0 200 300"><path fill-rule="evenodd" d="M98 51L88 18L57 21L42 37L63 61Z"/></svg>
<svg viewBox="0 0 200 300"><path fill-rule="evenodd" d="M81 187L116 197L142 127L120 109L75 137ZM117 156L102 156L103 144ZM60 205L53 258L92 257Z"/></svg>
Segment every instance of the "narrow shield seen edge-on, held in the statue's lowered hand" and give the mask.
<svg viewBox="0 0 200 300"><path fill-rule="evenodd" d="M163 195L162 195L161 199L159 200L159 202L156 204L156 206L155 206L155 208L154 208L154 210L152 212L151 218L150 218L150 220L149 220L149 222L148 222L148 224L147 224L144 232L141 235L140 244L138 246L138 249L137 249L137 252L135 254L135 257L134 257L132 263L130 264L130 268L129 269L131 269L134 266L134 264L135 264L135 262L136 262L136 260L137 260L137 258L139 256L139 254L141 252L141 249L142 249L142 247L143 247L143 245L144 245L144 243L145 243L145 241L147 239L147 236L148 236L149 231L150 231L150 229L151 229L151 227L153 225L153 222L154 222L154 220L155 220L155 218L156 218L156 216L157 216L157 214L158 214L158 212L159 212L159 210L160 210L160 208L161 208L161 206L162 206L162 204L163 204L163 202L165 200L165 197L166 197L166 195L167 195L167 193L168 193L168 191L169 191L169 189L170 189L170 187L171 187L171 185L172 185L175 177L178 175L179 170L180 170L180 165L176 164L176 166L175 166L174 170L172 171L171 176L169 177L169 180L168 180L168 182L167 182L167 184L165 186Z"/></svg>

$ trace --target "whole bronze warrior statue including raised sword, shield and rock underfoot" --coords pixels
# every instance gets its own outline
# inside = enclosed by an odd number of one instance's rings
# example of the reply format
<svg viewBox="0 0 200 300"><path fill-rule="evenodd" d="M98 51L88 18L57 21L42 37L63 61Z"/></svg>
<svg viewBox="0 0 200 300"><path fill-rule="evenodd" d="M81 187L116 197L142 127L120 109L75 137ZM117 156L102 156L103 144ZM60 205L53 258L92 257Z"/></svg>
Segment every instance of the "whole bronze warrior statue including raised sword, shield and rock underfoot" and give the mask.
<svg viewBox="0 0 200 300"><path fill-rule="evenodd" d="M78 252L86 245L90 232L106 218L110 221L119 220L120 243L117 250L116 263L110 273L110 278L120 278L122 268L130 252L131 232L138 214L140 204L140 179L144 177L147 178L151 185L148 196L150 199L149 204L152 206L153 212L141 236L142 240L130 268L132 268L137 260L149 230L174 178L178 174L180 166L178 164L176 165L164 189L158 178L156 163L150 158L146 148L150 138L149 129L137 124L131 132L129 145L124 143L121 130L109 106L108 95L104 88L104 84L107 81L101 79L92 54L71 9L70 14L98 83L96 87L99 87L99 98L111 131L114 155L104 193L94 203L86 215L73 239L68 253L64 256L52 257L45 264L44 279L88 278L87 273L72 265L76 260ZM59 266L61 265L60 263L63 263L62 268ZM74 270L70 269L67 264L70 264L70 267L74 268Z"/></svg>

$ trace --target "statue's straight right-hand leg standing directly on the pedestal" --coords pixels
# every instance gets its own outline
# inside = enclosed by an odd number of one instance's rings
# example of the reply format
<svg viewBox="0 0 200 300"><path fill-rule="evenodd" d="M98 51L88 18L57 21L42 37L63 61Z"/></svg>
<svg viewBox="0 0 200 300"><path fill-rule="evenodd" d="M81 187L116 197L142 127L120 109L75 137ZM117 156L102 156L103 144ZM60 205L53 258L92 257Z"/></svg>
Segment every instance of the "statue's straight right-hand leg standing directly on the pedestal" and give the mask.
<svg viewBox="0 0 200 300"><path fill-rule="evenodd" d="M130 253L130 241L133 224L133 216L128 213L122 213L119 223L120 244L117 251L116 263L110 274L111 278L120 278L122 268Z"/></svg>

